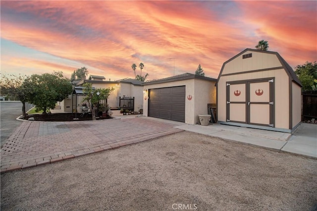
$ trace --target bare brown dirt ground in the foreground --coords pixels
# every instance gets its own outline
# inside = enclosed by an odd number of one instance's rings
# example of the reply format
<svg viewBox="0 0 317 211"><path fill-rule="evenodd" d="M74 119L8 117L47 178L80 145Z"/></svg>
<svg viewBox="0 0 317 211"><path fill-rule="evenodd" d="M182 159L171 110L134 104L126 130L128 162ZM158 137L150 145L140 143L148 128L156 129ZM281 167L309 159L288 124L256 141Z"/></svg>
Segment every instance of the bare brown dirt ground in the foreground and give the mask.
<svg viewBox="0 0 317 211"><path fill-rule="evenodd" d="M317 210L317 160L180 132L1 174L6 210Z"/></svg>

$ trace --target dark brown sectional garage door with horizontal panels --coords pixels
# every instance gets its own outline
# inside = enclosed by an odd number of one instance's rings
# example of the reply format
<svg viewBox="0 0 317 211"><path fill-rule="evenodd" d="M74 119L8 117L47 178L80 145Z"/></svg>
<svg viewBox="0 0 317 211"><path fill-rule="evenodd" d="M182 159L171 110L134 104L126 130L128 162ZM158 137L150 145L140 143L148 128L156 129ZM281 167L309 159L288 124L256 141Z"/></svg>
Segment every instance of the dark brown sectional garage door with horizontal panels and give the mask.
<svg viewBox="0 0 317 211"><path fill-rule="evenodd" d="M185 86L149 90L149 117L185 122Z"/></svg>

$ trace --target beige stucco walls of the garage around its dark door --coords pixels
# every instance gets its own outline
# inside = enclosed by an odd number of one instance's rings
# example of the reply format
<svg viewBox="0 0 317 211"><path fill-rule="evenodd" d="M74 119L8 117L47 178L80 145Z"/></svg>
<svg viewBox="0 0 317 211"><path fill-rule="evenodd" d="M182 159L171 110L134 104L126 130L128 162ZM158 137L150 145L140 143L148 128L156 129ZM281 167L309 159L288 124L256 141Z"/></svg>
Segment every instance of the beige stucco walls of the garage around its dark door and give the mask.
<svg viewBox="0 0 317 211"><path fill-rule="evenodd" d="M216 101L216 89L214 86L215 82L189 79L169 83L151 84L144 85L147 90L154 88L172 87L172 86L183 86L185 85L185 123L194 125L199 122L199 114L208 114L207 104L215 103ZM144 94L146 100L143 97L144 116L148 116L148 96L149 91ZM191 96L191 100L188 96Z"/></svg>

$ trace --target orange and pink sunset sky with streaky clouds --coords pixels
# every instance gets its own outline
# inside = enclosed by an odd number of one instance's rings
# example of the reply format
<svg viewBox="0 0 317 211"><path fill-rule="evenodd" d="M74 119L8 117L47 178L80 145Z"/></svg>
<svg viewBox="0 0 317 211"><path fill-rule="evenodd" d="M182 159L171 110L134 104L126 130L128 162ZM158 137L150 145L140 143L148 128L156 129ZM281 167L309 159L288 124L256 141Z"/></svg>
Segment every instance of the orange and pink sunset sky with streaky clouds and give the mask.
<svg viewBox="0 0 317 211"><path fill-rule="evenodd" d="M106 80L194 73L260 40L293 68L317 60L317 1L0 1L1 73L78 68ZM175 59L169 59L175 58ZM140 69L137 68L137 74ZM143 75L144 75L143 74Z"/></svg>

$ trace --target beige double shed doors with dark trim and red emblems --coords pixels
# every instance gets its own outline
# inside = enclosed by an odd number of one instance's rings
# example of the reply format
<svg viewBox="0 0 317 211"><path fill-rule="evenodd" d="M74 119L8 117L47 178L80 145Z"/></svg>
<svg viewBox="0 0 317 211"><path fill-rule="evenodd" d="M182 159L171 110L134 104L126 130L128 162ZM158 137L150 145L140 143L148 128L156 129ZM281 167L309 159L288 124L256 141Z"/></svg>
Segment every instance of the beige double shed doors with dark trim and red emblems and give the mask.
<svg viewBox="0 0 317 211"><path fill-rule="evenodd" d="M274 127L274 80L227 83L227 122Z"/></svg>

